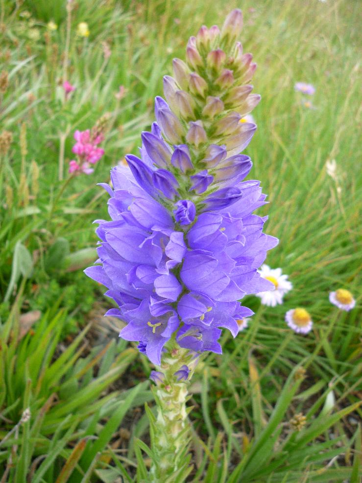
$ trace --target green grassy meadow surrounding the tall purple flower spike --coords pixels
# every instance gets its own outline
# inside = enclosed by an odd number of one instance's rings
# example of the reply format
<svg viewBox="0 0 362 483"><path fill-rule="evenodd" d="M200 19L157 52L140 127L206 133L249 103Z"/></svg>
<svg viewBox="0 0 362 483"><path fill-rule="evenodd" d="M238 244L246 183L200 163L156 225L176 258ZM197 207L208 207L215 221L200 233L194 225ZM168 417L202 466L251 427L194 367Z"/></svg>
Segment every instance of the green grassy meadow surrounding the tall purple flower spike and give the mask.
<svg viewBox="0 0 362 483"><path fill-rule="evenodd" d="M261 179L269 204L258 214L280 239L266 262L294 288L275 308L245 299L250 327L236 339L225 332L224 355L199 364L193 468L180 482L358 483L359 2L72 5L67 16L66 1L0 1L0 482L144 478L151 367L118 339L118 322L102 317L103 288L83 274L96 259L92 222L107 218L97 183L137 153L162 76L184 58L188 37L239 7L262 95L249 178ZM88 36L77 34L81 22ZM64 80L75 86L67 98ZM295 92L297 81L312 83L314 96ZM105 115L95 173L70 176L74 131ZM350 313L328 300L340 287L357 299ZM284 322L296 306L314 320L306 336ZM289 422L299 413L301 431Z"/></svg>

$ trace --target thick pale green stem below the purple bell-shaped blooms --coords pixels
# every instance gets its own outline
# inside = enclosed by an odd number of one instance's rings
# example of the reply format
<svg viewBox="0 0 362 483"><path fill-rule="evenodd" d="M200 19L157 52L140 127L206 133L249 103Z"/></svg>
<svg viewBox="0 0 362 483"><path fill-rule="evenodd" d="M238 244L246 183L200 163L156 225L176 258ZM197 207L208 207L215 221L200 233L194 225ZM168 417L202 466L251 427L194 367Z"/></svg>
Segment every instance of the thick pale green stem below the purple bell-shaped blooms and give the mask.
<svg viewBox="0 0 362 483"><path fill-rule="evenodd" d="M183 365L190 369L188 380L178 380L175 373ZM157 419L151 432L154 458L150 469L150 483L180 481L180 472L188 466L188 448L191 427L186 403L189 399L188 385L196 359L186 349L174 344L162 356L160 372L164 379L153 387L157 405Z"/></svg>

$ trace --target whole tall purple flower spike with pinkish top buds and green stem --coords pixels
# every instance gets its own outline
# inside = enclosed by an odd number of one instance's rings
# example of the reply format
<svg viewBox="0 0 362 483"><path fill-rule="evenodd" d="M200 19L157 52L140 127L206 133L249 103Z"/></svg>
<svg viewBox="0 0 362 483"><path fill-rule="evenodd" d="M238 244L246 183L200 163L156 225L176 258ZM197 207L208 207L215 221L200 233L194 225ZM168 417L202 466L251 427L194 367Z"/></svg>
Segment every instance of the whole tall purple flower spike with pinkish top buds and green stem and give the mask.
<svg viewBox="0 0 362 483"><path fill-rule="evenodd" d="M256 64L237 38L233 10L221 30L202 26L186 62L173 60L156 97L141 157L111 171L109 214L98 220L98 264L86 274L104 284L126 323L120 336L137 341L155 364L157 420L151 420L154 482L184 471L190 425L187 384L197 357L221 354L221 329L235 337L252 311L246 294L272 290L257 269L278 240L263 233L259 181L244 181L252 162L241 154L256 126L240 122L260 101L250 82ZM172 476L173 475L173 476Z"/></svg>

